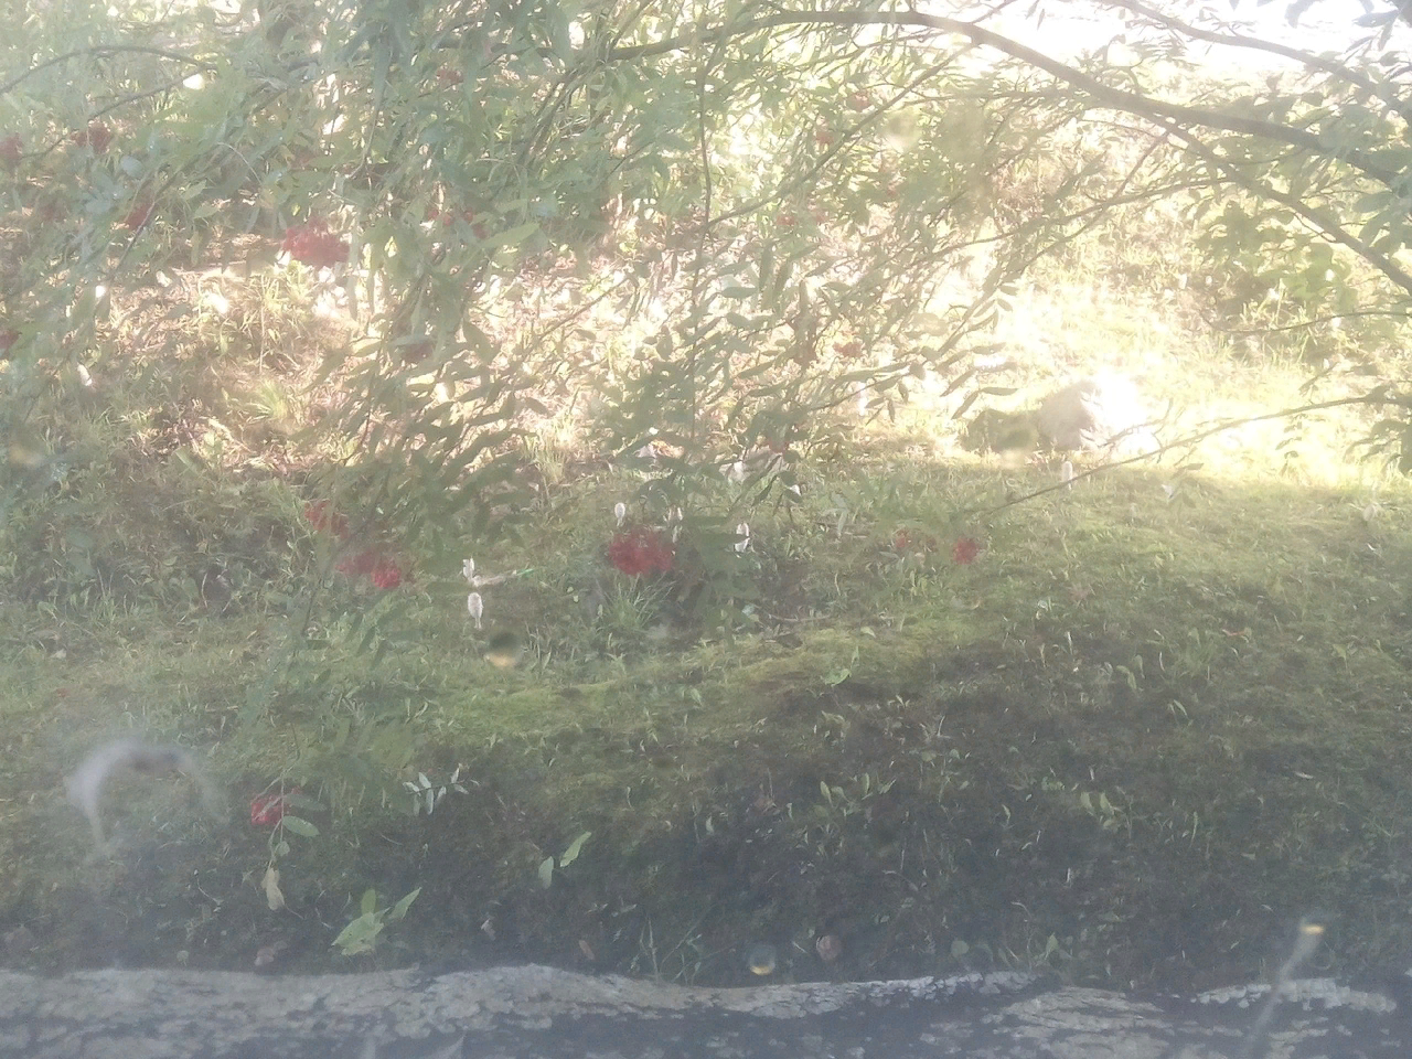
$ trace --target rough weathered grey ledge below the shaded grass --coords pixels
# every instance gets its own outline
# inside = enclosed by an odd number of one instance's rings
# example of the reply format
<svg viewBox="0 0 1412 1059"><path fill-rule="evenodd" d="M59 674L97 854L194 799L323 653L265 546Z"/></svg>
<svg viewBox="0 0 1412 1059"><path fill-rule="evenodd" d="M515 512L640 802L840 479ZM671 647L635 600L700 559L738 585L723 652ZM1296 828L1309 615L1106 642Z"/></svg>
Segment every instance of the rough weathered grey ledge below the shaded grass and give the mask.
<svg viewBox="0 0 1412 1059"><path fill-rule="evenodd" d="M1196 998L1024 974L689 988L548 967L267 977L0 971L14 1059L1344 1059L1412 1055L1396 1003L1291 981Z"/></svg>

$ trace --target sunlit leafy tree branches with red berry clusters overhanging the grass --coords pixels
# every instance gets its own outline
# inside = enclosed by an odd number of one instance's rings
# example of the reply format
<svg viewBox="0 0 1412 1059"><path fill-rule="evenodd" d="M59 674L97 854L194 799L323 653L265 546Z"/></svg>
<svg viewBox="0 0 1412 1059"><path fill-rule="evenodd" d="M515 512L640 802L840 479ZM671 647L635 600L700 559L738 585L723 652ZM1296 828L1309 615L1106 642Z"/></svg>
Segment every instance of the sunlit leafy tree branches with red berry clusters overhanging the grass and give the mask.
<svg viewBox="0 0 1412 1059"><path fill-rule="evenodd" d="M1402 16L1315 54L1210 6L1093 7L1111 31L1062 54L1014 3L34 6L0 66L7 433L64 448L41 394L102 359L114 291L281 250L333 267L357 342L330 425L414 530L575 401L610 450L666 446L685 496L858 387L963 385L1011 285L1132 203L1179 206L1227 316L1278 285L1320 349L1385 337ZM1221 80L1206 45L1271 72ZM1406 466L1406 395L1367 400Z"/></svg>

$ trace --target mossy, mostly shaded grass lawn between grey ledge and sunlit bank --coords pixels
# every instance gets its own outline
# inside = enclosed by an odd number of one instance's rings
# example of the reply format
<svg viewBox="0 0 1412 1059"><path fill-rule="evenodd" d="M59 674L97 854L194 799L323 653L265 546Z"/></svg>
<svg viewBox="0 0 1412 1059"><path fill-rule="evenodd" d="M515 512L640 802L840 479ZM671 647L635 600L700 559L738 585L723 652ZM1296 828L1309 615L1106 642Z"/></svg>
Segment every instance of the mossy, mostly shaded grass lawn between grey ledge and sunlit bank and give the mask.
<svg viewBox="0 0 1412 1059"><path fill-rule="evenodd" d="M1197 473L1169 500L1161 470L1120 469L981 520L959 513L1052 472L888 452L812 469L792 518L753 518L757 599L730 634L651 634L665 586L600 558L630 487L611 474L477 558L530 568L484 590L484 633L456 570L388 596L335 585L264 703L247 690L282 657L273 610L11 604L0 853L20 868L0 915L51 967L106 959L95 938L234 967L280 938L287 967L342 966L329 942L369 885L424 887L376 963L592 952L736 983L770 940L785 977L1018 964L1168 987L1260 973L1313 907L1343 915L1334 970L1405 950L1402 486L1365 521L1363 486ZM935 546L899 551L899 525ZM986 546L971 565L952 562L962 531ZM573 603L590 580L596 620ZM349 617L393 597L371 665ZM477 648L503 627L530 644L508 672ZM209 748L232 818L127 782L119 853L95 863L58 772L130 730ZM407 815L397 781L456 764L467 792ZM271 912L267 836L239 815L278 775L328 810L318 837L287 836ZM585 830L545 891L541 861Z"/></svg>

